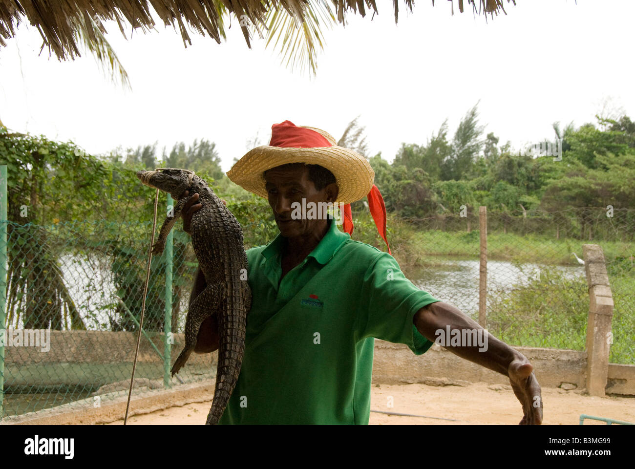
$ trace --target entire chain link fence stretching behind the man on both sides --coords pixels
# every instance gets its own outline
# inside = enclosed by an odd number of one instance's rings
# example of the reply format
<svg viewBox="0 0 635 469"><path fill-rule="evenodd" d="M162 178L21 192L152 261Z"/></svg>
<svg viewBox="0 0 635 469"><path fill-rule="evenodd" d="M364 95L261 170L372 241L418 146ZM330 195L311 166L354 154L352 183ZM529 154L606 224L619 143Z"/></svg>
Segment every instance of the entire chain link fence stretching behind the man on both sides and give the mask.
<svg viewBox="0 0 635 469"><path fill-rule="evenodd" d="M265 203L256 208L251 201L228 205L243 225L246 247L276 236ZM357 212L355 217L353 238L385 248L370 215ZM4 223L8 277L2 418L125 396L151 222ZM616 209L611 217L591 208L489 212L487 223L486 327L492 334L514 346L584 350L589 296L584 266L573 253L582 256L584 243L598 243L615 301L610 361L634 362L635 210ZM180 332L197 266L189 235L178 226L172 233L173 254L153 257L150 267L135 393L215 376L211 355L192 355L177 377L169 376L183 347ZM391 217L388 238L408 278L478 320L478 214ZM173 276L166 288L169 268Z"/></svg>

